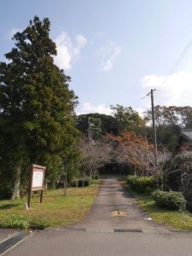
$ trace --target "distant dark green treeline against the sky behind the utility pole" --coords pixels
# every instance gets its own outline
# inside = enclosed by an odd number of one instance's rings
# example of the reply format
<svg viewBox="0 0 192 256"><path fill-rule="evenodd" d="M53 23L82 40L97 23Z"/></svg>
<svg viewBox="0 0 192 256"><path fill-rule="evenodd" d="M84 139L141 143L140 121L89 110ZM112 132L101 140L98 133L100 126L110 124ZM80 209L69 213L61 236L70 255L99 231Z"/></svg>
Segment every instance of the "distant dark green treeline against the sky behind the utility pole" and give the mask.
<svg viewBox="0 0 192 256"><path fill-rule="evenodd" d="M152 115L148 109L140 117L139 113L131 107L125 108L119 104L111 106L112 114L88 113L79 115L77 128L85 136L88 136L89 119L91 136L113 134L121 135L125 131L134 131L139 137L146 137L148 142L153 143ZM192 129L192 108L155 106L155 126L157 132L157 143L169 151L175 146L178 131Z"/></svg>

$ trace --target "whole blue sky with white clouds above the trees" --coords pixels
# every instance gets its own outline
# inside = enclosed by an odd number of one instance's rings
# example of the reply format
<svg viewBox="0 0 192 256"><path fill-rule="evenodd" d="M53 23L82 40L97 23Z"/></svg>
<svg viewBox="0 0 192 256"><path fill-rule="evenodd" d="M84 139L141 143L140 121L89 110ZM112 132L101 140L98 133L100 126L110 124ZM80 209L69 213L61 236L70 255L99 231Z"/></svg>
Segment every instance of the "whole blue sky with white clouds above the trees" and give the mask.
<svg viewBox="0 0 192 256"><path fill-rule="evenodd" d="M0 61L34 15L49 17L57 45L55 63L72 77L77 113L110 113L110 104L150 107L149 90L160 105L191 105L190 0L17 0L1 1Z"/></svg>

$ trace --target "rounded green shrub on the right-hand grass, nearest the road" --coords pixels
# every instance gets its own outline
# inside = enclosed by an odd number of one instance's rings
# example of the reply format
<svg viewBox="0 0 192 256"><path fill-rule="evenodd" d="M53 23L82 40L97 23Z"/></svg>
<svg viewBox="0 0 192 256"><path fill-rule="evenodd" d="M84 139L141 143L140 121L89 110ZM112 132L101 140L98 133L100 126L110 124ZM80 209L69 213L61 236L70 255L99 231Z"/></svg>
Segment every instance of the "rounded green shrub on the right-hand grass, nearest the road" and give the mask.
<svg viewBox="0 0 192 256"><path fill-rule="evenodd" d="M160 207L179 211L186 209L187 201L181 192L157 190L152 193L152 196Z"/></svg>

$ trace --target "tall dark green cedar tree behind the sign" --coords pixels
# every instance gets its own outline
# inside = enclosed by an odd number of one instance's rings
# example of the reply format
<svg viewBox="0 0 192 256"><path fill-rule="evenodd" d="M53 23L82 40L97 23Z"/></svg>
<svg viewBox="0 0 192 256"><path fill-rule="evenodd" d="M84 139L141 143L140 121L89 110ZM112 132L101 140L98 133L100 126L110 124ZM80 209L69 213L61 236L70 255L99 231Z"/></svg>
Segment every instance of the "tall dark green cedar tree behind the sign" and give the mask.
<svg viewBox="0 0 192 256"><path fill-rule="evenodd" d="M9 61L0 62L0 175L13 178L13 186L7 182L12 198L20 196L24 160L48 166L53 179L79 135L73 125L77 97L54 64L49 27L48 18L35 16L15 33L16 47L5 55Z"/></svg>

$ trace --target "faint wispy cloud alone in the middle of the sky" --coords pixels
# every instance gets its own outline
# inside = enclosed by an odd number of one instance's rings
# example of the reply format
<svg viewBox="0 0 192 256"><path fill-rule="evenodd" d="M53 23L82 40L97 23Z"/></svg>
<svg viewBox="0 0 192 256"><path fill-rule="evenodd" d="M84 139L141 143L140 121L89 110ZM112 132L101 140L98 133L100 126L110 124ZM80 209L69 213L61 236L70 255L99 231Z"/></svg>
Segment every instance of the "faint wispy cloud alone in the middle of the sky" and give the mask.
<svg viewBox="0 0 192 256"><path fill-rule="evenodd" d="M111 70L120 52L121 48L111 41L108 41L104 46L102 46L100 49L100 54L102 55L101 70Z"/></svg>

